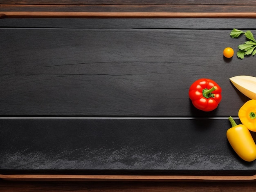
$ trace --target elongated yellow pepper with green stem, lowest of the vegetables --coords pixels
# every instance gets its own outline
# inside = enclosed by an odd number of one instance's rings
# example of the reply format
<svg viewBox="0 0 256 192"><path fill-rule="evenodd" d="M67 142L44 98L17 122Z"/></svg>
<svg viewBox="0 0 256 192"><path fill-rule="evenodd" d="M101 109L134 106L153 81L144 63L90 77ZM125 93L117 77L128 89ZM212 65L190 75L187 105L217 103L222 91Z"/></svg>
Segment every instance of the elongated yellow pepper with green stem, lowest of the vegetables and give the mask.
<svg viewBox="0 0 256 192"><path fill-rule="evenodd" d="M256 145L249 129L245 125L237 125L230 116L229 121L232 125L227 130L227 139L234 151L245 161L254 161L256 159Z"/></svg>

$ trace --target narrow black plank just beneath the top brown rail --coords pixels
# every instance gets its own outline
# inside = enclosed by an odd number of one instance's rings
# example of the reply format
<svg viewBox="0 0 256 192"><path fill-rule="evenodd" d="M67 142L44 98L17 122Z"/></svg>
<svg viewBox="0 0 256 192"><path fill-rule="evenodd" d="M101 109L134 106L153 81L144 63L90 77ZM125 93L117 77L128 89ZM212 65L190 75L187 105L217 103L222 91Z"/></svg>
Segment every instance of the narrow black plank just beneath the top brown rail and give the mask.
<svg viewBox="0 0 256 192"><path fill-rule="evenodd" d="M49 22L50 21L50 22ZM150 22L149 22L150 21ZM19 18L0 20L1 28L133 28L133 29L256 29L255 19L223 18L158 18L158 19L80 19L80 18ZM227 27L230 26L230 27Z"/></svg>

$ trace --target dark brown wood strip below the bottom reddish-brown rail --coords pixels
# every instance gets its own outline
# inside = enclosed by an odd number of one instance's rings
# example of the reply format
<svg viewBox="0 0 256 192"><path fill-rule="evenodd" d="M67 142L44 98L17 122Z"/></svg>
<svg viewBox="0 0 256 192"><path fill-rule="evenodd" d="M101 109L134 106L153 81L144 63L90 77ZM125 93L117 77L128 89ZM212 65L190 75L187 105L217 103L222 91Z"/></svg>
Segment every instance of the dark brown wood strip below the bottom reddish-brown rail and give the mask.
<svg viewBox="0 0 256 192"><path fill-rule="evenodd" d="M252 192L256 182L45 182L0 181L0 192Z"/></svg>

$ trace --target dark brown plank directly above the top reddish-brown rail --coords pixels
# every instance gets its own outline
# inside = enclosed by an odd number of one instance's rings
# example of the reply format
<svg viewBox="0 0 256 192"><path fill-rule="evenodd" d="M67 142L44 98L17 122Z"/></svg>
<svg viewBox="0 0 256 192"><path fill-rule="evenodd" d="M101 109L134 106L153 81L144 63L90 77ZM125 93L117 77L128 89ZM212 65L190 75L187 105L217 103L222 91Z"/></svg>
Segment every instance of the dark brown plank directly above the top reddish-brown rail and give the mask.
<svg viewBox="0 0 256 192"><path fill-rule="evenodd" d="M254 13L256 5L5 5L0 4L1 12L98 12L98 13ZM22 14L22 13L20 13Z"/></svg>

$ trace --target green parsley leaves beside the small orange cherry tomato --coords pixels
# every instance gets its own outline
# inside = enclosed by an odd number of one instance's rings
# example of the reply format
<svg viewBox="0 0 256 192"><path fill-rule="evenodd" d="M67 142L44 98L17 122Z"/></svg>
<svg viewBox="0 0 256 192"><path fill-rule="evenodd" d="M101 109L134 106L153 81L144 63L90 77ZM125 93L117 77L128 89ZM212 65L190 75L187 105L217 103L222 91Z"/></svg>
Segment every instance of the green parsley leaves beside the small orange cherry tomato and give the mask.
<svg viewBox="0 0 256 192"><path fill-rule="evenodd" d="M256 54L256 40L251 31L241 31L238 29L233 29L230 33L232 38L238 38L241 34L245 34L248 41L244 44L238 46L237 56L240 59L243 59L246 55L252 54L253 56Z"/></svg>

